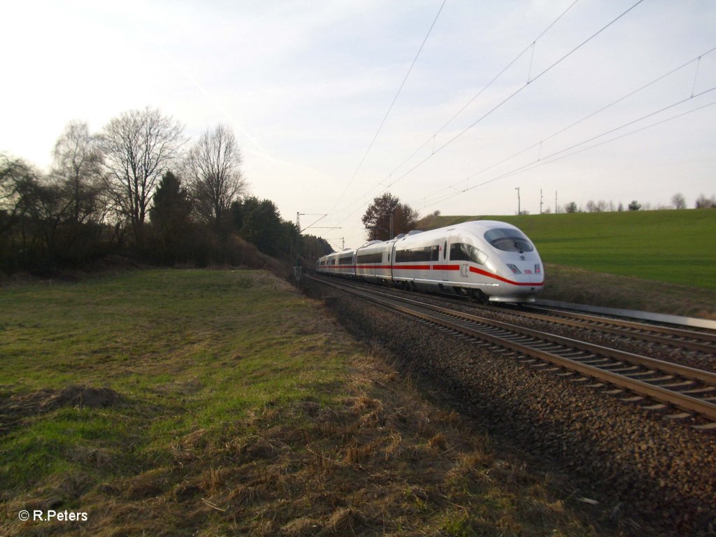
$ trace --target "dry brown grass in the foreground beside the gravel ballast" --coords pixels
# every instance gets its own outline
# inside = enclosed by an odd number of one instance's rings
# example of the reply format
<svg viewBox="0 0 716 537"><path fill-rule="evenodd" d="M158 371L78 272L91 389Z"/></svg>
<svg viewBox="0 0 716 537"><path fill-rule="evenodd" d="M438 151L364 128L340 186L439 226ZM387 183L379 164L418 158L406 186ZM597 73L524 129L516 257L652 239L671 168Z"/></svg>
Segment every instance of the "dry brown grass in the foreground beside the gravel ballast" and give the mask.
<svg viewBox="0 0 716 537"><path fill-rule="evenodd" d="M94 536L597 534L545 475L494 453L377 357L348 366L335 405L266 407L221 435L179 438L168 464L89 490L81 478L55 486L77 488Z"/></svg>

